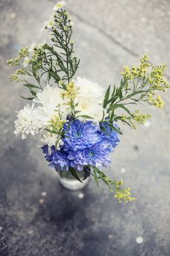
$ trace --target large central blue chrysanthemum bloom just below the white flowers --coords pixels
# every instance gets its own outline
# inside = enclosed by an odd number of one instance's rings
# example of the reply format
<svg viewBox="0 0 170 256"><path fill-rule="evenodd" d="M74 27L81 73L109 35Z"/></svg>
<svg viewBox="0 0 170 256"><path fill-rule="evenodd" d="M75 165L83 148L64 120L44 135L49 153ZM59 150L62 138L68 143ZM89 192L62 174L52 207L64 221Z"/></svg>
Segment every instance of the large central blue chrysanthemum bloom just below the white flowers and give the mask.
<svg viewBox="0 0 170 256"><path fill-rule="evenodd" d="M67 130L67 126L69 129ZM66 124L63 138L63 148L65 151L77 151L77 149L89 148L100 140L98 129L92 121L82 122L74 120Z"/></svg>

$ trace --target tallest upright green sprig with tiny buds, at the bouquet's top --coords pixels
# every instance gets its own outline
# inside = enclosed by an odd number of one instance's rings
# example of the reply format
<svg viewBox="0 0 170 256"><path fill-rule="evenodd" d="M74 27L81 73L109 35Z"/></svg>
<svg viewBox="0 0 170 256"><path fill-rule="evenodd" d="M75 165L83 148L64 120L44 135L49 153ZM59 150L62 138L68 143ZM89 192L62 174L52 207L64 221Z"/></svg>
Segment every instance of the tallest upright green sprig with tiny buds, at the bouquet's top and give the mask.
<svg viewBox="0 0 170 256"><path fill-rule="evenodd" d="M57 60L58 69L55 72L62 72L63 75L61 78L56 78L56 82L58 83L60 80L63 82L69 83L72 80L75 72L80 63L80 59L74 55L74 41L72 40L72 20L69 17L68 12L66 10L58 10L56 14L53 16L54 22L53 26L49 29L51 34L51 40L53 42L53 46L47 46L47 50L49 54L55 56ZM46 27L48 29L48 27ZM55 48L60 49L58 52ZM51 70L53 72L53 69Z"/></svg>

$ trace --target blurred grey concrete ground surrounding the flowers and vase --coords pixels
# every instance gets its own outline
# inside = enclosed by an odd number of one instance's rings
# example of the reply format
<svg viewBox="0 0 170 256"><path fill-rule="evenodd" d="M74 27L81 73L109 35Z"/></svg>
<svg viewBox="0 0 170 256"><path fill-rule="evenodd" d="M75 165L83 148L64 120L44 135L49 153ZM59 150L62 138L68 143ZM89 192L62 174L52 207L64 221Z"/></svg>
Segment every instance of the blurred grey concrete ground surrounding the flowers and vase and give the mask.
<svg viewBox="0 0 170 256"><path fill-rule="evenodd" d="M15 138L16 110L26 89L9 82L6 60L22 46L42 42L40 29L55 1L0 0L1 256L168 256L170 255L170 92L163 110L142 106L152 118L133 130L122 127L112 154L112 178L122 178L136 201L120 204L91 179L82 192L68 192L47 167L32 138ZM169 0L68 0L80 69L77 75L119 85L124 64L143 53L167 64L170 78ZM170 80L170 79L169 79Z"/></svg>

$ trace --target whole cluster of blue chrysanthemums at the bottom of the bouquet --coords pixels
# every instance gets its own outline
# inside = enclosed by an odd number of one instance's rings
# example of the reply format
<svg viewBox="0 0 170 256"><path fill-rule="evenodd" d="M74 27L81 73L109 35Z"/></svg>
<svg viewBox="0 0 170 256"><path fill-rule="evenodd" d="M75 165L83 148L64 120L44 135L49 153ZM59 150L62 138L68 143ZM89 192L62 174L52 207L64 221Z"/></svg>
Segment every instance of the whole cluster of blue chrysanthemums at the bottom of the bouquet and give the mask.
<svg viewBox="0 0 170 256"><path fill-rule="evenodd" d="M109 153L117 146L119 139L117 132L112 131L106 122L102 123L101 127L104 127L105 132L92 121L74 120L66 124L60 150L55 151L55 146L42 147L50 166L61 171L68 171L69 167L81 171L86 165L93 165L98 169L109 165Z"/></svg>

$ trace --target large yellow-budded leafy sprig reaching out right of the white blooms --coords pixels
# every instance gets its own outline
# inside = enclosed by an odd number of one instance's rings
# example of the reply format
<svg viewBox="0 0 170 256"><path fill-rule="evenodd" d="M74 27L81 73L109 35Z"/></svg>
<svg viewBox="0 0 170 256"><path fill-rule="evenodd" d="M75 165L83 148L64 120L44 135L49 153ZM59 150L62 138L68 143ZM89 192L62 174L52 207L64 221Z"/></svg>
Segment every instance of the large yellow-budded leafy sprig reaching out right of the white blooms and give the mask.
<svg viewBox="0 0 170 256"><path fill-rule="evenodd" d="M120 86L117 88L113 86L112 92L111 86L108 87L103 104L106 114L102 121L107 116L107 122L111 127L113 127L113 121L120 120L130 127L136 128L133 121L144 124L144 121L150 118L150 115L139 115L139 110L131 113L128 105L147 103L157 108L163 108L161 96L154 96L155 91L164 92L170 88L169 83L163 78L166 65L150 67L147 60L148 57L145 55L140 59L141 63L138 67L133 66L129 69L125 66L123 72L121 72L123 78L120 81ZM117 109L123 110L126 115L117 116L115 113Z"/></svg>

